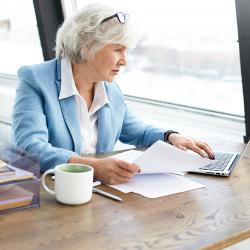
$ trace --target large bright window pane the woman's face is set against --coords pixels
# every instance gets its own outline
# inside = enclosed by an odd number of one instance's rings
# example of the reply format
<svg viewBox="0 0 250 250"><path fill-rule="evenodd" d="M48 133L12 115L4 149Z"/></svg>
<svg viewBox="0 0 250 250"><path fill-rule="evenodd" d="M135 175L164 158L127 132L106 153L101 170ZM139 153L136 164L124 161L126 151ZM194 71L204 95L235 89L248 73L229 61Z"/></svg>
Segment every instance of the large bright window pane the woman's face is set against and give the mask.
<svg viewBox="0 0 250 250"><path fill-rule="evenodd" d="M105 3L128 12L142 35L117 80L125 94L244 114L234 0Z"/></svg>

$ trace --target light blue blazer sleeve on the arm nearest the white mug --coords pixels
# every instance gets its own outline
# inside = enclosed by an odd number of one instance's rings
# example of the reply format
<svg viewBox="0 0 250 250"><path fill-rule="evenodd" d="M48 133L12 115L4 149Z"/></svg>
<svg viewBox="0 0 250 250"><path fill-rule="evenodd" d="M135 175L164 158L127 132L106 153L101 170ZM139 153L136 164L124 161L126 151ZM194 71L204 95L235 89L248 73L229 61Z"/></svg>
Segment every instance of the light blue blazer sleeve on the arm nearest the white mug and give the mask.
<svg viewBox="0 0 250 250"><path fill-rule="evenodd" d="M53 147L48 142L48 128L43 99L32 81L19 77L13 108L13 139L17 146L39 158L41 171L66 163L76 155L73 151Z"/></svg>

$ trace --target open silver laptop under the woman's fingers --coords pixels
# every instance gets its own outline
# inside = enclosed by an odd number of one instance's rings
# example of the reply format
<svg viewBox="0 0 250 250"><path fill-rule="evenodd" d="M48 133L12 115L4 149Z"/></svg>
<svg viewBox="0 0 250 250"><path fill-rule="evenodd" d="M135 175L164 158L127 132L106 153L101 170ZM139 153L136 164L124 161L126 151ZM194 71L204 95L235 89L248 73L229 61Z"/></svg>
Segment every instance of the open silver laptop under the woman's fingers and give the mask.
<svg viewBox="0 0 250 250"><path fill-rule="evenodd" d="M241 154L234 152L215 152L215 161L213 163L201 167L198 170L189 171L189 173L229 176L247 148L250 149L249 143Z"/></svg>

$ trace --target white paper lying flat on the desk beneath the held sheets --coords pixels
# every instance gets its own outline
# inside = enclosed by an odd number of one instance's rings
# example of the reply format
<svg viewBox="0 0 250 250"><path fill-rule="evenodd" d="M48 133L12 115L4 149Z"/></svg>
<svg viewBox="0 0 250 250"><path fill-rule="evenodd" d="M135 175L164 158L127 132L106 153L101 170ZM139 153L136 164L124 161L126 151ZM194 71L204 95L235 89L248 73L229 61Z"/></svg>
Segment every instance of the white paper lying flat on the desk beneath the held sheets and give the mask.
<svg viewBox="0 0 250 250"><path fill-rule="evenodd" d="M134 176L128 183L110 185L121 192L134 192L147 198L186 192L203 188L204 185L172 174L142 174Z"/></svg>

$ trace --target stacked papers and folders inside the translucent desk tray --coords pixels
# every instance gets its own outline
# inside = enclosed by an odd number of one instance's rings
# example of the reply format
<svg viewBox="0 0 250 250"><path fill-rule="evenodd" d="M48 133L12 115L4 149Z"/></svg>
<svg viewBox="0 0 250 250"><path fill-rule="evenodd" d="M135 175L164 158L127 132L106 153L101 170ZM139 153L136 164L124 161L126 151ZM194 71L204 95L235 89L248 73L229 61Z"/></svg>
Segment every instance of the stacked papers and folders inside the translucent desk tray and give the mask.
<svg viewBox="0 0 250 250"><path fill-rule="evenodd" d="M30 190L28 180L34 179L34 173L0 160L0 212L30 206L35 192Z"/></svg>

